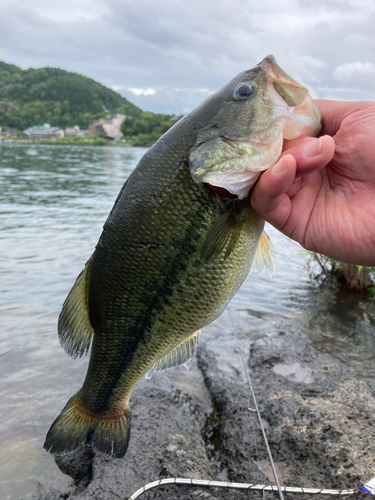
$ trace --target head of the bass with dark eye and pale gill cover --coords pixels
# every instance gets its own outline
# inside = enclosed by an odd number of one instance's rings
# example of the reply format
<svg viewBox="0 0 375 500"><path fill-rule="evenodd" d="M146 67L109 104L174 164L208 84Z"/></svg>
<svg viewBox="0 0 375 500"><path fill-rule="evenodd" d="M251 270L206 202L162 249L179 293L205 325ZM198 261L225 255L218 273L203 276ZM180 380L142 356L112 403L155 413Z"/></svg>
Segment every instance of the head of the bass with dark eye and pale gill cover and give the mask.
<svg viewBox="0 0 375 500"><path fill-rule="evenodd" d="M207 112L209 110L209 112ZM318 136L320 110L306 87L270 55L240 73L197 110L209 116L189 152L197 183L245 198L260 173L279 159L283 140Z"/></svg>

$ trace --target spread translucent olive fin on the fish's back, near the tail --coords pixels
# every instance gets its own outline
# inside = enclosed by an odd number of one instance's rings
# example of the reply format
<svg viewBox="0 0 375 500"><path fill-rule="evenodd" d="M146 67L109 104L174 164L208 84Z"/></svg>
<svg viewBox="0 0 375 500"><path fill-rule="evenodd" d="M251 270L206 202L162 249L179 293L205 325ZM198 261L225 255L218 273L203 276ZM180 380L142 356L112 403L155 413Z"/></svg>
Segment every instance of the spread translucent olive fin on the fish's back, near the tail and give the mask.
<svg viewBox="0 0 375 500"><path fill-rule="evenodd" d="M76 279L63 304L58 332L60 344L72 358L87 353L94 329L89 317L89 288L92 257Z"/></svg>

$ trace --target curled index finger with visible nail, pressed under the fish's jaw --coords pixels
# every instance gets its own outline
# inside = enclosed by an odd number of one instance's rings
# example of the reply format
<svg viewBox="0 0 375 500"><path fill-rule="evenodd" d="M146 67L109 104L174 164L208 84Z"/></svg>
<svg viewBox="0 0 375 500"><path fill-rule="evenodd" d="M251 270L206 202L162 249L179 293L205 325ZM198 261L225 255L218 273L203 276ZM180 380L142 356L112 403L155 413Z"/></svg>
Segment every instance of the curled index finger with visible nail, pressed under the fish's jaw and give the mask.
<svg viewBox="0 0 375 500"><path fill-rule="evenodd" d="M325 167L335 154L335 141L328 135L319 139L302 140L297 145L293 144L295 141L289 142L288 149L282 154L292 155L295 158L297 177L309 175Z"/></svg>

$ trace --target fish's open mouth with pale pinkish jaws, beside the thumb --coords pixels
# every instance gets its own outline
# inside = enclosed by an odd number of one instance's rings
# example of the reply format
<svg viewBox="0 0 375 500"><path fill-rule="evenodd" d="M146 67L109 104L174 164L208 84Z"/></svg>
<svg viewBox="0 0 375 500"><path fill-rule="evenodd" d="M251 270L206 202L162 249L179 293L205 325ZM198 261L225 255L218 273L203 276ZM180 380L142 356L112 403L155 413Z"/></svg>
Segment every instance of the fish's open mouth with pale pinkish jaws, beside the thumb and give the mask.
<svg viewBox="0 0 375 500"><path fill-rule="evenodd" d="M319 136L322 131L322 115L306 87L296 82L280 66L273 55L260 63L267 84L263 90L263 102L284 108L283 139L296 139L300 135Z"/></svg>

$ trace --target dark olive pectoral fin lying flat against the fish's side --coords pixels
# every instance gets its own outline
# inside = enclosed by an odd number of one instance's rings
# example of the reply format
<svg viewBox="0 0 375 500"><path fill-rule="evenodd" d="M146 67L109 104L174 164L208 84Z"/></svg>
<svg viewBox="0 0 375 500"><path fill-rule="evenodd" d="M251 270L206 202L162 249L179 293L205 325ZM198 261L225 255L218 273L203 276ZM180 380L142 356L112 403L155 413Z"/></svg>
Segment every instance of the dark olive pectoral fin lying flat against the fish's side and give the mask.
<svg viewBox="0 0 375 500"><path fill-rule="evenodd" d="M227 259L240 239L241 230L242 224L237 207L233 206L215 222L208 232L200 252L201 262L207 263L215 260L224 251L226 245L224 259Z"/></svg>

